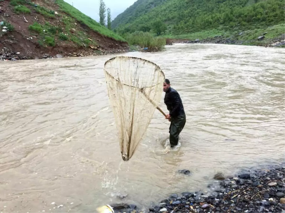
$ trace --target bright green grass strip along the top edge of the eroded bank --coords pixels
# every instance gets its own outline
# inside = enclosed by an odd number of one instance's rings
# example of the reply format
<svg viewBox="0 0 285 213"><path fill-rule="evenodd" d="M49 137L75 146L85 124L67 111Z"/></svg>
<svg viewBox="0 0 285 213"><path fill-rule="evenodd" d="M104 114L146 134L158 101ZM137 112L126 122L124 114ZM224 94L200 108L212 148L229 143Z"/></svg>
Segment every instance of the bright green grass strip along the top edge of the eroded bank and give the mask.
<svg viewBox="0 0 285 213"><path fill-rule="evenodd" d="M118 34L114 33L112 30L109 30L105 26L101 26L98 22L90 18L89 16L86 16L85 14L81 13L78 9L72 7L70 4L66 3L63 0L56 0L56 3L60 6L60 8L67 13L68 15L72 16L79 22L82 22L86 26L88 26L90 29L105 35L110 38L114 38L115 40L119 41L125 41L124 38L119 36Z"/></svg>

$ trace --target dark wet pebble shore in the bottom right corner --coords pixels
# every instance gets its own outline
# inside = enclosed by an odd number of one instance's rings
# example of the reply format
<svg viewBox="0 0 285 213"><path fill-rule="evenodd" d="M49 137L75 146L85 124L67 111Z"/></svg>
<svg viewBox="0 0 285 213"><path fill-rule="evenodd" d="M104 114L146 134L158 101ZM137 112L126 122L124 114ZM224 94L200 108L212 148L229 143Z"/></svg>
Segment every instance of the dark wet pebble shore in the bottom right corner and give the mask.
<svg viewBox="0 0 285 213"><path fill-rule="evenodd" d="M187 170L185 170L187 171ZM189 175L189 172L184 172ZM285 165L256 169L236 176L216 174L207 194L172 194L147 210L135 205L111 204L115 212L285 212Z"/></svg>

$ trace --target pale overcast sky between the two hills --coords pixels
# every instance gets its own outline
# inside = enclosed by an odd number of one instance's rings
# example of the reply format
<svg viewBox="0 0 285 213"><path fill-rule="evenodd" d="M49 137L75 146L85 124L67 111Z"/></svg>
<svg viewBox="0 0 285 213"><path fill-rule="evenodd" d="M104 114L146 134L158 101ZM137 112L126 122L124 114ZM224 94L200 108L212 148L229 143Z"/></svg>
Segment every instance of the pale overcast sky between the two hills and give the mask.
<svg viewBox="0 0 285 213"><path fill-rule="evenodd" d="M85 15L93 18L99 22L99 0L64 0L76 9L80 10ZM109 7L111 9L111 19L116 18L117 15L124 12L129 6L133 5L137 0L104 0L106 9ZM107 14L106 14L107 21Z"/></svg>

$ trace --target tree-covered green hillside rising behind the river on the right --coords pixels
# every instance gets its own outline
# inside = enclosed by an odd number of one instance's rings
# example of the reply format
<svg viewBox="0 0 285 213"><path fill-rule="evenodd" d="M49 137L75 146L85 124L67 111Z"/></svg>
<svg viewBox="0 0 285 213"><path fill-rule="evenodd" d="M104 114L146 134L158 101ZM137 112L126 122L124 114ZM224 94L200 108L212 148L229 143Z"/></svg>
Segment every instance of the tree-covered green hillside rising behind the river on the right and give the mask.
<svg viewBox="0 0 285 213"><path fill-rule="evenodd" d="M116 31L179 36L254 30L285 22L285 0L165 0L153 6L154 2L139 0L137 7L129 7L113 20Z"/></svg>

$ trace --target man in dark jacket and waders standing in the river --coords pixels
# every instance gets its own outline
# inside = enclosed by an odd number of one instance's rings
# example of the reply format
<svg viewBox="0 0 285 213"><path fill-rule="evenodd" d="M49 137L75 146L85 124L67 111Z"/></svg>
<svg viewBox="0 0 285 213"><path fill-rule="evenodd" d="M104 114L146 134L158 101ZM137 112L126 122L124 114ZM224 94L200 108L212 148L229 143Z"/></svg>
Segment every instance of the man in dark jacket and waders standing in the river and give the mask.
<svg viewBox="0 0 285 213"><path fill-rule="evenodd" d="M170 146L174 147L178 144L179 134L186 123L186 115L180 95L176 90L171 88L168 79L164 80L163 91L165 92L164 104L166 104L169 111L166 119L171 122L169 126L169 141Z"/></svg>

